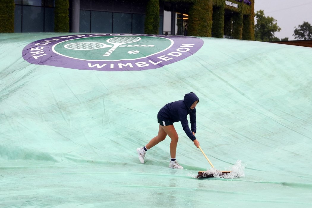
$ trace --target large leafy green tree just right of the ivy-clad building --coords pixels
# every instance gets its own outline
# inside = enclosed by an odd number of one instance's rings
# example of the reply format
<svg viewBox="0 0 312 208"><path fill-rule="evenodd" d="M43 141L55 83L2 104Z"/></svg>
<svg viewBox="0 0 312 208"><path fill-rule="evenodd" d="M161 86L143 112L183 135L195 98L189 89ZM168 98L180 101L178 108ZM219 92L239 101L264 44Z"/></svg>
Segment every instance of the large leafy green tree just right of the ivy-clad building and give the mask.
<svg viewBox="0 0 312 208"><path fill-rule="evenodd" d="M255 25L256 41L277 41L279 38L274 36L275 32L281 29L277 25L277 21L273 17L265 16L263 10L256 13L257 23Z"/></svg>

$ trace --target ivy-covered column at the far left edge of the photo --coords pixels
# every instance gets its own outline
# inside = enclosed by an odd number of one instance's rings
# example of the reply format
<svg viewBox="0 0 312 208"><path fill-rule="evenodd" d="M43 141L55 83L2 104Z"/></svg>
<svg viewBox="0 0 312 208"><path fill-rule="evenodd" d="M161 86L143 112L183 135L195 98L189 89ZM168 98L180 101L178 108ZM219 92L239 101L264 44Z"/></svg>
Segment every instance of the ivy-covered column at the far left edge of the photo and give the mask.
<svg viewBox="0 0 312 208"><path fill-rule="evenodd" d="M0 32L14 32L14 0L1 0Z"/></svg>

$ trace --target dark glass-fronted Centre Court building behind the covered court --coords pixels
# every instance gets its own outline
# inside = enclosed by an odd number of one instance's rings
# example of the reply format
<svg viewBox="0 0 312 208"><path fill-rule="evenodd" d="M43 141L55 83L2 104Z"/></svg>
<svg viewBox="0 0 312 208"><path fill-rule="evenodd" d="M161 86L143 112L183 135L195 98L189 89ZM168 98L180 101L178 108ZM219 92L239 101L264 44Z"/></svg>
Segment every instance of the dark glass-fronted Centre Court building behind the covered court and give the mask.
<svg viewBox="0 0 312 208"><path fill-rule="evenodd" d="M69 0L69 32L148 33L153 1ZM14 32L54 32L55 0L14 2ZM159 0L156 7L158 34L254 39L254 0Z"/></svg>

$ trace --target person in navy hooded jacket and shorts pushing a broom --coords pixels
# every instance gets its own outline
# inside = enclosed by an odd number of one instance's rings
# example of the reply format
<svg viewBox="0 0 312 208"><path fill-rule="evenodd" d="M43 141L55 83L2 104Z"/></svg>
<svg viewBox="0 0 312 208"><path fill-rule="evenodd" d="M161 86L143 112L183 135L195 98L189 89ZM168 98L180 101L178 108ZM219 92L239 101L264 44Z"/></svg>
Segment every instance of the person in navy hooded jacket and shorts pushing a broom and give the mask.
<svg viewBox="0 0 312 208"><path fill-rule="evenodd" d="M198 148L199 142L195 137L196 133L196 105L199 99L195 93L190 92L185 94L183 100L174 101L163 106L157 114L157 120L159 123L158 135L152 138L142 148L137 148L139 160L144 164L144 157L146 157L146 151L163 141L168 135L171 138L170 143L170 168L183 169L182 166L176 160L176 150L178 143L178 133L175 130L173 123L181 121L184 132L190 138L194 145ZM187 115L189 114L191 129L188 126Z"/></svg>

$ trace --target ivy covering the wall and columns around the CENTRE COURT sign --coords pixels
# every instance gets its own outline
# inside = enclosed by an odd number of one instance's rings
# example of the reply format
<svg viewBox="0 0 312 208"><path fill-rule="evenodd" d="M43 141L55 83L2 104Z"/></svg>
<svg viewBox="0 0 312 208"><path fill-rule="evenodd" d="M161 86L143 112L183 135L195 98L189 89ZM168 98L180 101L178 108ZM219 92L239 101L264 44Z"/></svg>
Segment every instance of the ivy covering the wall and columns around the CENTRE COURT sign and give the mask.
<svg viewBox="0 0 312 208"><path fill-rule="evenodd" d="M251 5L243 1L229 0L237 3L238 8L228 6L225 0L164 0L172 3L191 3L189 8L188 35L219 37L233 36L235 39L254 40L254 2ZM226 12L232 12L226 15Z"/></svg>

